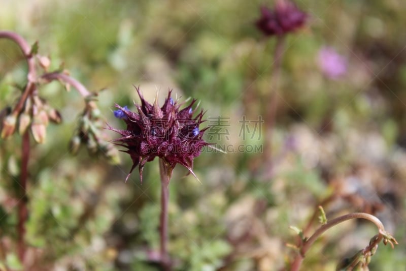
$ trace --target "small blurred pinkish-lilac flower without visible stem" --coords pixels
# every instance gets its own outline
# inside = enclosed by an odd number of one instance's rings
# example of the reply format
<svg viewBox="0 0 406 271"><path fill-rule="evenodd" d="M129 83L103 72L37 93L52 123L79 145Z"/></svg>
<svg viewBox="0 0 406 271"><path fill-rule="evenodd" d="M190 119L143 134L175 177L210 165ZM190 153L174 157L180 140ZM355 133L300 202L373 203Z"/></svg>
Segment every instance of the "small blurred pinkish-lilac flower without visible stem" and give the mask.
<svg viewBox="0 0 406 271"><path fill-rule="evenodd" d="M331 47L323 47L319 51L319 66L329 79L337 80L347 72L347 59Z"/></svg>

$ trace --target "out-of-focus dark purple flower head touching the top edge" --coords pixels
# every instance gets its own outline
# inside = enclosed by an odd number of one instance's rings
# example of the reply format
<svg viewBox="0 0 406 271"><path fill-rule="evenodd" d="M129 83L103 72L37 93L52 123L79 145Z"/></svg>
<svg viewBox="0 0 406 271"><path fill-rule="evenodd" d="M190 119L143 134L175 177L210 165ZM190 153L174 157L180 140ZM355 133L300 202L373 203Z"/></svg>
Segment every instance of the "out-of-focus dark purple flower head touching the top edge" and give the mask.
<svg viewBox="0 0 406 271"><path fill-rule="evenodd" d="M266 36L284 35L303 26L307 17L290 0L277 0L274 10L261 7L261 18L256 25Z"/></svg>

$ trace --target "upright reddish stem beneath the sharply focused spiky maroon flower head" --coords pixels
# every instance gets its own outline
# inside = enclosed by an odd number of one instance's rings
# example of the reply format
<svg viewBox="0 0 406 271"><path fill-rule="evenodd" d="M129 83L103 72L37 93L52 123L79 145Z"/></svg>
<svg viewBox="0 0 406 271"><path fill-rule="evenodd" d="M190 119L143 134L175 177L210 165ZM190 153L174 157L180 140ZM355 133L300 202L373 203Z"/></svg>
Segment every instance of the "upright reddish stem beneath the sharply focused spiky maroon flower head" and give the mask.
<svg viewBox="0 0 406 271"><path fill-rule="evenodd" d="M171 270L171 260L166 245L168 238L169 181L172 175L172 168L167 166L165 161L159 159L159 172L161 175L160 260L164 270Z"/></svg>

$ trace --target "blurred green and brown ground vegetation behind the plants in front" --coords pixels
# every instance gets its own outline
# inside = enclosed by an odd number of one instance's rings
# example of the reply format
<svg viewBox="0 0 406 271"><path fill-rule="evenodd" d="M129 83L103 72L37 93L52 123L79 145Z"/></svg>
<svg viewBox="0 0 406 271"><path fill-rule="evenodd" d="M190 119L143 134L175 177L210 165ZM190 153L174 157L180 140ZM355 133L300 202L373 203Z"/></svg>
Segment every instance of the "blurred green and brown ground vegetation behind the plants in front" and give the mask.
<svg viewBox="0 0 406 271"><path fill-rule="evenodd" d="M380 245L371 270L406 264L406 6L391 1L297 1L306 26L285 40L272 142L260 117L273 91L275 38L256 29L269 1L1 0L0 28L17 32L90 91L112 127L114 103L153 101L167 89L207 110L207 149L194 172L177 166L170 185L169 251L177 270L277 270L292 259L290 225L318 226L350 212L377 215L399 245ZM26 64L0 40L0 108L18 97ZM25 266L30 270L159 270L158 162L124 183L130 158L109 165L85 149L69 154L81 97L58 82L40 95L63 122L33 147L28 180ZM244 123L244 119L248 123ZM254 129L255 130L254 132ZM245 129L245 130L244 130ZM117 134L106 131L108 138ZM0 269L23 269L16 256L19 136L0 140ZM264 159L272 146L272 172ZM312 247L303 270L335 270L368 245L368 222L347 222ZM27 267L26 267L27 268Z"/></svg>

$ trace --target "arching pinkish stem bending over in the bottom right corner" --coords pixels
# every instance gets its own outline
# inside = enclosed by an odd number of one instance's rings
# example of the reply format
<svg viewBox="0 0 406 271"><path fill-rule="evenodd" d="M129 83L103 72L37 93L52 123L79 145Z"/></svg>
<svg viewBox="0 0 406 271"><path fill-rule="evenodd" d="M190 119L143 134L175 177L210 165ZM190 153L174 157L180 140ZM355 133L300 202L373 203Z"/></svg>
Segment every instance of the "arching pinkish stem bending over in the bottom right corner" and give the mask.
<svg viewBox="0 0 406 271"><path fill-rule="evenodd" d="M384 225L382 224L382 222L376 218L373 215L369 215L366 213L352 213L352 214L348 214L348 215L344 215L335 219L332 219L330 221L328 221L326 224L322 225L320 228L318 228L315 233L313 233L312 236L310 236L309 239L307 239L302 247L300 248L300 252L297 254L296 258L294 259L292 266L290 268L291 271L298 271L300 268L300 265L304 259L304 255L306 254L306 252L309 250L309 248L313 245L313 243L316 241L316 239L323 234L326 230L328 230L329 228L340 224L344 221L347 220L351 220L351 219L366 219L369 220L371 222L373 222L379 230L379 242L381 241L381 239L383 238L382 234L385 232L385 228ZM378 242L378 243L379 243ZM377 244L378 244L377 243Z"/></svg>

